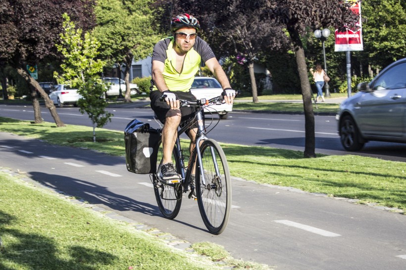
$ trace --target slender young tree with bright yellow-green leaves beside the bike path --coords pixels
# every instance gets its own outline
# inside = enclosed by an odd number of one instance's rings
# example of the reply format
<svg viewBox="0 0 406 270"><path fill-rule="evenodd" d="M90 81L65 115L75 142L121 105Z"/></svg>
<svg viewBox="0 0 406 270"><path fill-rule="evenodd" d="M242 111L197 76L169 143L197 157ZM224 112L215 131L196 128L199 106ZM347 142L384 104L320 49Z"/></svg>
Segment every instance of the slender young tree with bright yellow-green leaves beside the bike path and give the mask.
<svg viewBox="0 0 406 270"><path fill-rule="evenodd" d="M77 88L82 95L78 101L79 110L82 114L86 112L92 120L93 141L96 142L96 127L103 127L107 121L111 121L112 116L105 111L107 102L102 98L108 87L99 76L105 62L96 59L99 42L89 32L82 39L82 29L75 29L75 24L66 13L63 18L64 32L60 34L62 44L56 45L65 57L61 64L63 74L59 76L55 73L55 77L59 82Z"/></svg>

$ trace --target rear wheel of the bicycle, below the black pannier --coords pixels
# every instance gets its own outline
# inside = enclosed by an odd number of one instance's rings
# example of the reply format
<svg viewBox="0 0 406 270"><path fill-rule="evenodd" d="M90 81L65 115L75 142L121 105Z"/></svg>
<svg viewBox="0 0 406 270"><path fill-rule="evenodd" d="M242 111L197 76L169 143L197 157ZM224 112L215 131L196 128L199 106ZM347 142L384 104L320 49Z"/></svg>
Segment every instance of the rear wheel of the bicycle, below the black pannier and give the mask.
<svg viewBox="0 0 406 270"><path fill-rule="evenodd" d="M182 204L183 186L182 181L176 184L164 184L158 179L160 167L162 165L163 151L162 142L159 142L158 157L156 164L156 172L153 174L153 190L158 204L159 210L166 219L174 219L179 213ZM178 173L180 173L179 158L176 148L172 152L173 165Z"/></svg>

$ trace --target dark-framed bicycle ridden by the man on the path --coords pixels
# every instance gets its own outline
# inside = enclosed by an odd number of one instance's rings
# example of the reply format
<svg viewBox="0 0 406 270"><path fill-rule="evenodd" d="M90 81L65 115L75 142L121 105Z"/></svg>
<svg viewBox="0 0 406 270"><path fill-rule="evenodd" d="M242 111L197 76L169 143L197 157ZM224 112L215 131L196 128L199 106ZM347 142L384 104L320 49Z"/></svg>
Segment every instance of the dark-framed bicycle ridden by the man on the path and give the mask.
<svg viewBox="0 0 406 270"><path fill-rule="evenodd" d="M161 101L165 97L163 95ZM191 119L183 128L178 128L178 136L172 151L172 161L174 161L175 170L181 179L169 181L160 179L159 172L163 158L161 141L159 142L156 171L152 174L156 202L165 218L174 219L178 215L182 204L182 194L189 192L189 199L192 197L197 199L204 225L213 234L222 233L228 224L231 210L231 182L223 149L217 141L207 137L203 109L221 102L222 99L221 95L209 100L179 99L181 107L196 107L195 118ZM198 133L194 142L194 150L189 156L183 153L179 136L186 132L195 121L198 123ZM191 181L195 167L196 196L195 184Z"/></svg>

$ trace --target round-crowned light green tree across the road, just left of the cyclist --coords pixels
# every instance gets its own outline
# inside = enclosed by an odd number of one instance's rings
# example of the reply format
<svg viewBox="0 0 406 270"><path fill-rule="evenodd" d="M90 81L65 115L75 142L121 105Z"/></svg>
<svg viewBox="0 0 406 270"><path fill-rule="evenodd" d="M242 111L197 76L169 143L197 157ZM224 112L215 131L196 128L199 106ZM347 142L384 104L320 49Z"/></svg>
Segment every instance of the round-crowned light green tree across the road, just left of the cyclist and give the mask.
<svg viewBox="0 0 406 270"><path fill-rule="evenodd" d="M99 0L96 7L98 26L94 35L101 43L101 57L109 63L125 64L125 102L131 102L130 71L133 59L146 58L158 41L157 21L151 10L152 0Z"/></svg>

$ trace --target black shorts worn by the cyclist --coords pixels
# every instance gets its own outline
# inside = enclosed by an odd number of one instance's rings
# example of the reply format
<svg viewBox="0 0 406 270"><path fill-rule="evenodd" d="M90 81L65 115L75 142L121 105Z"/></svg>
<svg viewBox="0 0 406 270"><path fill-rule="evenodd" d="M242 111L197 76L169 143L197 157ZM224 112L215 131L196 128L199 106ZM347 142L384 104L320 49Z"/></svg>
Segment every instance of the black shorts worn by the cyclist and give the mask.
<svg viewBox="0 0 406 270"><path fill-rule="evenodd" d="M190 92L183 92L183 91L172 91L175 93L179 98L187 99L187 100L196 100L196 97ZM151 91L150 99L151 99L151 108L156 114L156 117L162 124L165 124L166 114L170 110L170 106L166 103L166 101L160 101L159 98L162 96L162 93L159 90ZM184 127L187 125L191 118L195 117L196 108L195 107L181 107L181 121L180 127ZM193 125L193 128L197 128L197 124Z"/></svg>

